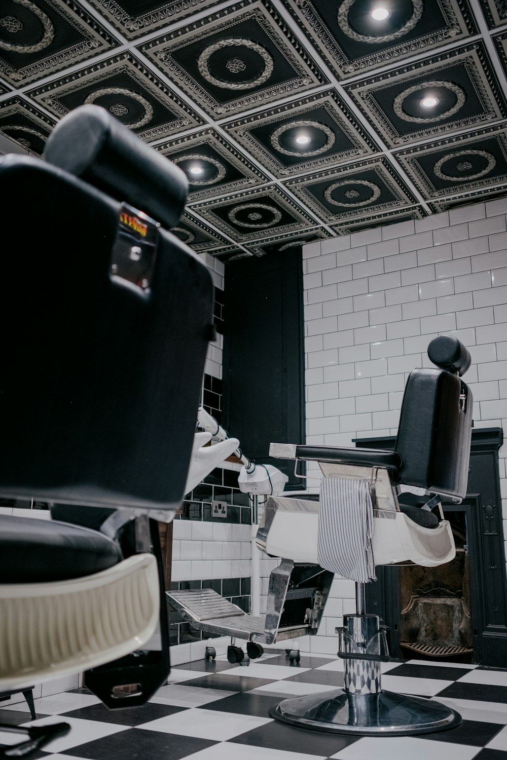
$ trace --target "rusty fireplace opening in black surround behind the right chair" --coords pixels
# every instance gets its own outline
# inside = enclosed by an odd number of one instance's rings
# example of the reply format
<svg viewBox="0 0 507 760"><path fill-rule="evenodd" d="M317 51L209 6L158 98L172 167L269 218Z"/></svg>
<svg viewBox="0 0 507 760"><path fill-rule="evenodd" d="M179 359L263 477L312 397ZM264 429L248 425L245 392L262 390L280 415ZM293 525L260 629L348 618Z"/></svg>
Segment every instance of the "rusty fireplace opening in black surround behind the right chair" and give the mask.
<svg viewBox="0 0 507 760"><path fill-rule="evenodd" d="M456 556L436 568L400 568L400 646L407 659L471 663L471 561L465 511L445 509Z"/></svg>

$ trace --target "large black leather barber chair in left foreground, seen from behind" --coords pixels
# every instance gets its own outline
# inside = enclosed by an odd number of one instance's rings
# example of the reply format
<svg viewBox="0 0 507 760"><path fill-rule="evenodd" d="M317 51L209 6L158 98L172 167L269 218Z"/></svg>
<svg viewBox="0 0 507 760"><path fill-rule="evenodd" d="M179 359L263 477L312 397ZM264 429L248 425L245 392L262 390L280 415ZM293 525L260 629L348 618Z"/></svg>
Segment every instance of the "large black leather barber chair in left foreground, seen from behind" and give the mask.
<svg viewBox="0 0 507 760"><path fill-rule="evenodd" d="M0 691L92 669L109 707L141 704L169 670L155 521L185 488L213 285L169 231L184 174L106 110L45 159L0 160L0 496L66 506L0 517Z"/></svg>

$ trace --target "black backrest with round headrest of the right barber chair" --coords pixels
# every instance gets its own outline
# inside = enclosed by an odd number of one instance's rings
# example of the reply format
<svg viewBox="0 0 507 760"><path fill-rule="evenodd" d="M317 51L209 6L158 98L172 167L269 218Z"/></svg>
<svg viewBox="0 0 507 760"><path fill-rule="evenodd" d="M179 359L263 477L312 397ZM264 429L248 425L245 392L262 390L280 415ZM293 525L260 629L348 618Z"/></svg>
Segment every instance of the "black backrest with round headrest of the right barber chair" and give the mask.
<svg viewBox="0 0 507 760"><path fill-rule="evenodd" d="M414 369L405 385L396 480L461 500L467 491L473 408L461 375L471 357L457 338L445 335L431 341L428 356L439 369Z"/></svg>

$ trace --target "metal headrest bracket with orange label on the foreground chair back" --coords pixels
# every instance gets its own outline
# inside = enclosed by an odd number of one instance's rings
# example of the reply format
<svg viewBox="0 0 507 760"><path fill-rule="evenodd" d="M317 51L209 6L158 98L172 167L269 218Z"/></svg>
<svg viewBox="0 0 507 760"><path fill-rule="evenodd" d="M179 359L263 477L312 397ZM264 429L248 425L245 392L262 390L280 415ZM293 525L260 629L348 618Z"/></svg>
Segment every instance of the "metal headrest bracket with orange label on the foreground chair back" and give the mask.
<svg viewBox="0 0 507 760"><path fill-rule="evenodd" d="M110 273L112 280L135 286L146 294L150 288L158 227L160 224L137 208L122 203L118 230L112 246Z"/></svg>

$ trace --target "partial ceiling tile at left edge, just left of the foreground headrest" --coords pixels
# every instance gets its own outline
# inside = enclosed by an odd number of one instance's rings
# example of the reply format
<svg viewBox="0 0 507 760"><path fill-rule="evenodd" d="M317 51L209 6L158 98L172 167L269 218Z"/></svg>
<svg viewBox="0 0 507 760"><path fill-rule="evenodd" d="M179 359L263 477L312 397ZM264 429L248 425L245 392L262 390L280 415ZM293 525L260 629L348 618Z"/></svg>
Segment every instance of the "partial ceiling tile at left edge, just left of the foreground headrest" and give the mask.
<svg viewBox="0 0 507 760"><path fill-rule="evenodd" d="M55 122L21 97L0 103L0 132L21 147L42 155Z"/></svg>

